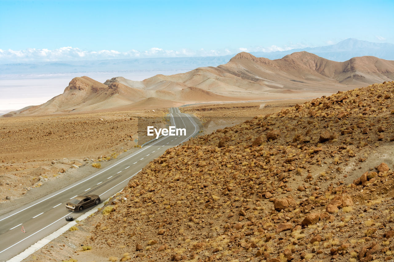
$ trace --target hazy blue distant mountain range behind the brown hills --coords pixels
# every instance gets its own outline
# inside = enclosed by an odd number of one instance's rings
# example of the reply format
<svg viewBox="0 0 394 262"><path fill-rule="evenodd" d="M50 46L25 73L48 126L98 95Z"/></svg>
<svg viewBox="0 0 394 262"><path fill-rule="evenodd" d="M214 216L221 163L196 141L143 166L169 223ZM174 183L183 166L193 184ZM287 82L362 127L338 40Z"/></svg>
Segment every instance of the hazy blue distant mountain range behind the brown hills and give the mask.
<svg viewBox="0 0 394 262"><path fill-rule="evenodd" d="M256 57L280 59L294 52L307 51L325 59L346 61L352 57L375 56L394 60L394 44L374 43L353 38L329 46L292 49L277 52L251 52ZM235 54L234 54L235 55ZM227 63L234 55L218 57L169 57L141 59L110 59L98 61L57 61L40 63L16 63L0 65L0 75L68 74L84 72L135 72L154 70L191 70L202 66L218 66Z"/></svg>

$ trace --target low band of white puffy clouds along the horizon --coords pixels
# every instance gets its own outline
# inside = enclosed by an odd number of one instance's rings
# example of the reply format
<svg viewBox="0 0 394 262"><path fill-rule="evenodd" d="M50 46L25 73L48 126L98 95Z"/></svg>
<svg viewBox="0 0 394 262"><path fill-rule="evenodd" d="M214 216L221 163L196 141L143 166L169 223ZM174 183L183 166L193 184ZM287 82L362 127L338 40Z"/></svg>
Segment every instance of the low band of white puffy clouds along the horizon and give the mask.
<svg viewBox="0 0 394 262"><path fill-rule="evenodd" d="M46 62L46 61L73 61L73 60L103 60L103 59L126 59L126 58L148 58L148 57L199 57L199 56L221 56L237 54L239 52L274 52L290 50L300 47L299 44L294 46L253 46L240 48L222 48L207 50L200 48L191 50L182 48L180 50L165 50L159 47L152 47L147 50L131 49L126 52L117 50L99 50L87 51L71 46L64 46L54 50L46 48L36 49L28 48L26 50L1 50L0 63L26 63L26 62Z"/></svg>

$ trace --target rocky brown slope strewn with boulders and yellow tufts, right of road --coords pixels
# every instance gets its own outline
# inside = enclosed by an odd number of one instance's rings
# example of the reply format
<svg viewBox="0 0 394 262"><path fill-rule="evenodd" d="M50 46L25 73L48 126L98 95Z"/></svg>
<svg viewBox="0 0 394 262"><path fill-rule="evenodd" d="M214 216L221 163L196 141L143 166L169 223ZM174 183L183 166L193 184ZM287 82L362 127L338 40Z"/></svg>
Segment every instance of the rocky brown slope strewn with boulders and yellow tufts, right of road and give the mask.
<svg viewBox="0 0 394 262"><path fill-rule="evenodd" d="M168 149L25 261L392 261L393 93L338 92Z"/></svg>

